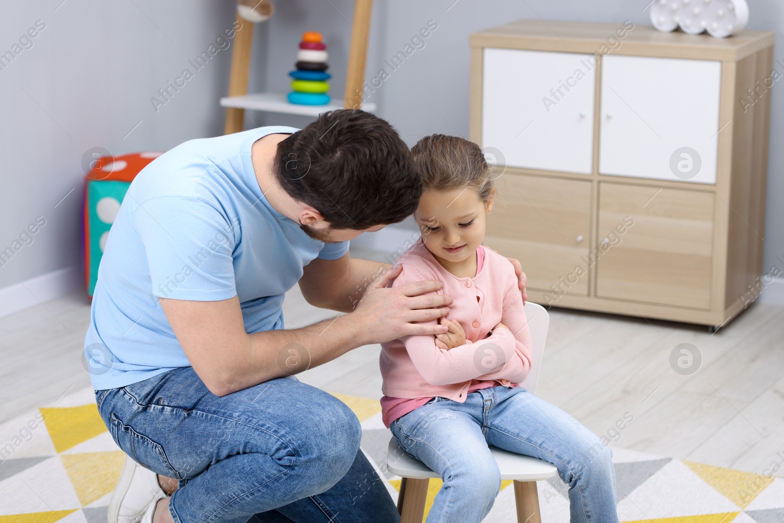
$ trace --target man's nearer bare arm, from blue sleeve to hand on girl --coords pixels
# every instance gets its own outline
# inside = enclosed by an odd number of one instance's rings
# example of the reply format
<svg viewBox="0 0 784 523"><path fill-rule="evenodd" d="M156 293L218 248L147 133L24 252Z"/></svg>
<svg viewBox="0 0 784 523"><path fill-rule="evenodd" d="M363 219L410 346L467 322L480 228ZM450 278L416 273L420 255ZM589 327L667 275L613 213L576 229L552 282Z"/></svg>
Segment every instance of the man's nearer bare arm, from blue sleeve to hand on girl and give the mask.
<svg viewBox="0 0 784 523"><path fill-rule="evenodd" d="M357 280L364 290L364 274L372 275L382 266L359 265L361 270L354 274L362 274ZM428 294L441 289L441 283L417 281L386 289L399 272L398 267L373 282L350 314L303 329L248 334L237 296L218 301L161 300L161 307L194 371L213 394L225 396L321 365L362 345L444 333L444 325L427 325L448 314L446 306L452 303L449 296Z"/></svg>

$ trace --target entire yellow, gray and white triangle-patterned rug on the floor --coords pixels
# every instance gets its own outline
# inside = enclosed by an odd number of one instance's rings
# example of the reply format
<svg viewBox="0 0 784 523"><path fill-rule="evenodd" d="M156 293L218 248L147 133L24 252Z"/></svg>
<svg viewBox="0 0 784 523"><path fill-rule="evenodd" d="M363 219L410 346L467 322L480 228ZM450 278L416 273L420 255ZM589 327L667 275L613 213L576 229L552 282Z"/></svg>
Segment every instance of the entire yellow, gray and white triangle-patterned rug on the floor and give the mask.
<svg viewBox="0 0 784 523"><path fill-rule="evenodd" d="M377 399L334 393L361 421L362 449L393 499L400 478L385 463L390 431ZM92 389L0 424L0 523L105 523L125 454L98 416ZM784 459L782 459L784 461ZM782 523L784 479L613 449L620 521ZM517 521L514 489L504 481L485 521ZM539 481L544 523L569 520L568 488ZM426 510L441 481L430 480Z"/></svg>

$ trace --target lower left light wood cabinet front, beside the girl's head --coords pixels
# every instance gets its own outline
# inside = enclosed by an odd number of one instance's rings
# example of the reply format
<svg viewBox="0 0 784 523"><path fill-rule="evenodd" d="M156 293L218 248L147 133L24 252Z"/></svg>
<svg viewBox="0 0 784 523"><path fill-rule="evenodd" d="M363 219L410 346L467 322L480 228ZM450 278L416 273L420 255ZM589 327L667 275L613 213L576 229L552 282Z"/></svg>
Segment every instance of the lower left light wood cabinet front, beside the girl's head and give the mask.
<svg viewBox="0 0 784 523"><path fill-rule="evenodd" d="M551 285L557 285L561 293L586 296L588 275L573 274L575 267L586 267L590 182L507 173L496 187L485 245L520 260L528 289L556 299Z"/></svg>

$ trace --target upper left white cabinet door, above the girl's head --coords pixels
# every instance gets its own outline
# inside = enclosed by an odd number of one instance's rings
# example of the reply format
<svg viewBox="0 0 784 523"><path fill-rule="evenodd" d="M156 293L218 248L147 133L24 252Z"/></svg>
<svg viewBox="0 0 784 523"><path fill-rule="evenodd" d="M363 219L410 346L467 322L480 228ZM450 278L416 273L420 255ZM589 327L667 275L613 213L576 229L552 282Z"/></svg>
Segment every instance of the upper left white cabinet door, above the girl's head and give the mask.
<svg viewBox="0 0 784 523"><path fill-rule="evenodd" d="M506 165L590 174L595 58L486 48L482 147Z"/></svg>

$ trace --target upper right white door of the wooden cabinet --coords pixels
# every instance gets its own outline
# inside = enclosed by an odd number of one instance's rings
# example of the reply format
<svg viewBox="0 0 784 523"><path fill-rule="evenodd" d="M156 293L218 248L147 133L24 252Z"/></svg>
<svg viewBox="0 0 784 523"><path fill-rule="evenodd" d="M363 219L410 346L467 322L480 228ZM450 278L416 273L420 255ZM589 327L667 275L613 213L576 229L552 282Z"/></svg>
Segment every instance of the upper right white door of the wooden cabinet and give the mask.
<svg viewBox="0 0 784 523"><path fill-rule="evenodd" d="M605 56L599 173L716 183L721 63Z"/></svg>

